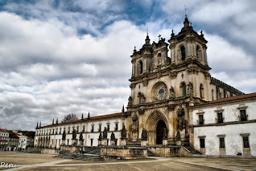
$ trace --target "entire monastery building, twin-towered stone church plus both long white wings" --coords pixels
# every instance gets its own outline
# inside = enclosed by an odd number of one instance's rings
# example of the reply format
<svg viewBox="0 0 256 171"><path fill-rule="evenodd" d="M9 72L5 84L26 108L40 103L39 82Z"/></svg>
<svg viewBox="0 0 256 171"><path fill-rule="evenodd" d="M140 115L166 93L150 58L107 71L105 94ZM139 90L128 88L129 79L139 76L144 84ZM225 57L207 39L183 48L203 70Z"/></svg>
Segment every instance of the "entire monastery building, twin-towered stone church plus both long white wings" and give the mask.
<svg viewBox="0 0 256 171"><path fill-rule="evenodd" d="M245 100L248 95L210 75L211 68L208 65L206 44L207 40L204 39L202 31L200 35L197 34L187 16L180 33L175 35L172 31L168 43L160 37L157 43L151 43L147 35L142 48L138 51L134 49L130 56L131 94L126 112L123 109L122 113L101 116L101 118L96 116L91 120L82 118L70 123L39 126L36 128L35 146L45 148L46 142L47 147L55 148L61 145L72 145L74 130L77 134L75 139L81 139L80 145L102 145L101 132L106 127L108 128L105 132L107 141L104 145L107 146L184 147L187 151L199 151L209 155L240 155L241 153L255 156L256 132L253 127L256 126L256 118L254 114L250 114L250 119L243 120L241 118L246 114L240 114L243 106L248 106L250 109L248 112L254 113L255 103L248 104L248 99ZM167 56L168 51L171 51L171 58ZM231 101L227 100L230 98ZM254 96L251 94L250 98L254 99ZM225 105L219 105L220 100ZM232 108L238 110L236 116L233 116ZM222 112L224 110L222 114L225 116L218 114L220 113L216 112L218 110ZM222 120L222 123L217 123L218 119L224 117L226 119ZM211 121L205 118L211 118L209 119ZM111 126L109 127L107 123L111 123ZM117 123L118 128L116 128ZM97 125L100 129L97 132L91 132L92 125ZM238 130L247 125L250 126L237 134L242 135L242 139L240 140L236 135L236 140L232 141L232 134L229 132L232 132L233 128ZM217 130L216 127L218 131L213 136L209 135L213 130ZM228 127L230 128L225 130ZM72 128L72 131L67 133L67 128ZM42 133L45 132L43 130L47 130L49 135L47 140ZM58 140L53 130L56 130L56 133L59 132ZM64 132L70 140L64 139L63 144L61 135ZM226 148L225 152L223 148L219 148L219 145L223 147L223 135L229 135L231 138L226 139L229 140L231 149ZM116 139L115 143L109 143L110 136L111 139ZM123 140L126 140L126 143ZM232 151L233 145L240 145L241 150Z"/></svg>

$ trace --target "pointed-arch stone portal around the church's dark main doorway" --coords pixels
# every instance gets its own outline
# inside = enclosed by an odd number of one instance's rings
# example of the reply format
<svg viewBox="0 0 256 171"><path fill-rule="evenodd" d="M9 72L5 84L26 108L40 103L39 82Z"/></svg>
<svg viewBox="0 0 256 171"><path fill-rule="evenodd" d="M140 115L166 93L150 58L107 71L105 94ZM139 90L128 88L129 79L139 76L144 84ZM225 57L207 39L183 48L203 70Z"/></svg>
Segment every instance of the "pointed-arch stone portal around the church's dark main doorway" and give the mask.
<svg viewBox="0 0 256 171"><path fill-rule="evenodd" d="M164 135L163 130L168 130L167 123L167 116L158 110L152 112L151 115L148 116L145 126L147 129L149 145L162 145Z"/></svg>

